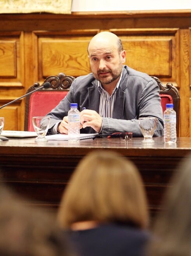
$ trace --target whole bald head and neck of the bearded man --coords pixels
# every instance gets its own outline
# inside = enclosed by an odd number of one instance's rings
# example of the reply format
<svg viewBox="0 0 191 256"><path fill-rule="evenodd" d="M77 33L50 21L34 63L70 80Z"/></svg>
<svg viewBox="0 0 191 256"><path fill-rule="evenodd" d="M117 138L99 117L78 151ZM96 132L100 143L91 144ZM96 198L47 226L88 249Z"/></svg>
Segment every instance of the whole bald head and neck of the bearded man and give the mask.
<svg viewBox="0 0 191 256"><path fill-rule="evenodd" d="M121 40L111 32L101 32L90 41L88 54L94 78L111 95L126 60Z"/></svg>

